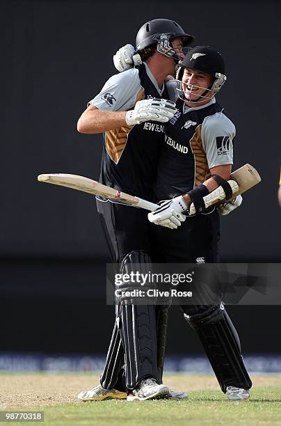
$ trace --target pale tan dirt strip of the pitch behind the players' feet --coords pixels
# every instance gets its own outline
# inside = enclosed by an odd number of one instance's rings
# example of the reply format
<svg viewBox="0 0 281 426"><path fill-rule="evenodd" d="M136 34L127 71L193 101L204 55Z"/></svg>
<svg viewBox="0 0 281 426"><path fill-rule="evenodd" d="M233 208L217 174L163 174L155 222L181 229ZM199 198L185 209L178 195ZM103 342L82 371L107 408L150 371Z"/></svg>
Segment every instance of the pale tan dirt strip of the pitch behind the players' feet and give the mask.
<svg viewBox="0 0 281 426"><path fill-rule="evenodd" d="M253 386L281 385L281 377L253 376ZM0 374L0 409L83 404L77 400L81 390L99 383L97 374ZM165 384L177 390L218 390L213 376L167 375Z"/></svg>

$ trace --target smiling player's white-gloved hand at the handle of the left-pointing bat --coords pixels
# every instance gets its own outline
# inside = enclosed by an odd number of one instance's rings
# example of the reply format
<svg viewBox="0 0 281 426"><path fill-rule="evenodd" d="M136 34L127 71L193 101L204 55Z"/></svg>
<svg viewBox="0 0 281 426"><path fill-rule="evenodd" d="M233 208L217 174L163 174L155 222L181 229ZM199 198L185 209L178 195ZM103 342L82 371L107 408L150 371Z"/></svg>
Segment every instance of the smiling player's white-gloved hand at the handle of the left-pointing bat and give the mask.
<svg viewBox="0 0 281 426"><path fill-rule="evenodd" d="M177 229L186 220L183 212L188 210L188 205L182 196L164 200L159 203L159 208L147 215L148 220L155 225Z"/></svg>

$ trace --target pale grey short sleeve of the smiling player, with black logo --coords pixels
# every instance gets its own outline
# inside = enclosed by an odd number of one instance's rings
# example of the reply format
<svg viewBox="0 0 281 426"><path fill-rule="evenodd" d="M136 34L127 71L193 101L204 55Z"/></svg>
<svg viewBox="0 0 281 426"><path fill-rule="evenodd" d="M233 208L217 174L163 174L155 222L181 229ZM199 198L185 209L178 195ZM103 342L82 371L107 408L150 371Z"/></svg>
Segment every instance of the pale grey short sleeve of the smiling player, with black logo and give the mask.
<svg viewBox="0 0 281 426"><path fill-rule="evenodd" d="M209 168L233 164L233 140L236 129L223 112L204 118L202 144Z"/></svg>

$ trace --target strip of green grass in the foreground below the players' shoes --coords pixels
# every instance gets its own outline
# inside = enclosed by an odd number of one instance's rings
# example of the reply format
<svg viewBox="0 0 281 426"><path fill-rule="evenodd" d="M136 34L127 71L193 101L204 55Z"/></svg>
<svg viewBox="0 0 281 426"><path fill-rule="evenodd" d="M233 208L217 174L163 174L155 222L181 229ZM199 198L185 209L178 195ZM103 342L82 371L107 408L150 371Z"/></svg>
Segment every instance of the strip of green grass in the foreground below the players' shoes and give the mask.
<svg viewBox="0 0 281 426"><path fill-rule="evenodd" d="M111 400L44 407L44 426L281 425L281 386L255 388L248 401L230 402L220 390L194 390L182 401ZM42 408L41 408L42 410ZM27 411L24 407L24 411ZM32 408L35 411L35 408ZM26 425L26 423L17 423ZM28 423L35 424L35 423Z"/></svg>

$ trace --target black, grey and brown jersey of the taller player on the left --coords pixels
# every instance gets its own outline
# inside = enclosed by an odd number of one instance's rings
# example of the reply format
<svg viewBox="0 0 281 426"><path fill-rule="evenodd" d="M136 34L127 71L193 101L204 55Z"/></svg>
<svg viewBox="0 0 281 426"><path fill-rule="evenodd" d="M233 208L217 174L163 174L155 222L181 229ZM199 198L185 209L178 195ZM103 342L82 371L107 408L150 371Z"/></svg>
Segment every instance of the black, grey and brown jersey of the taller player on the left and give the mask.
<svg viewBox="0 0 281 426"><path fill-rule="evenodd" d="M105 111L128 111L134 109L138 100L150 97L168 99L168 91L165 86L159 90L149 68L142 64L111 77L90 103ZM164 137L165 125L156 121L106 132L99 182L152 200Z"/></svg>

